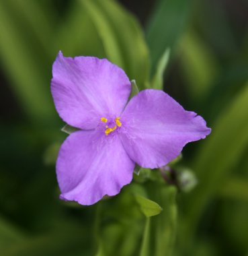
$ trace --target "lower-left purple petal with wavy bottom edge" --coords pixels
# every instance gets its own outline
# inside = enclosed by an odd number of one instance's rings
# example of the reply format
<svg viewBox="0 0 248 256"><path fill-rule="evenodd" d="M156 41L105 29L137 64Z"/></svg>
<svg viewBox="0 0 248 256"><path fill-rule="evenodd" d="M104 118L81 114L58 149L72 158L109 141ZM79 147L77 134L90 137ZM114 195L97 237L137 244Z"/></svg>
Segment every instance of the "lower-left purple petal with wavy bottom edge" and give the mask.
<svg viewBox="0 0 248 256"><path fill-rule="evenodd" d="M118 136L76 131L61 146L56 162L60 199L91 205L118 194L132 181L133 170Z"/></svg>

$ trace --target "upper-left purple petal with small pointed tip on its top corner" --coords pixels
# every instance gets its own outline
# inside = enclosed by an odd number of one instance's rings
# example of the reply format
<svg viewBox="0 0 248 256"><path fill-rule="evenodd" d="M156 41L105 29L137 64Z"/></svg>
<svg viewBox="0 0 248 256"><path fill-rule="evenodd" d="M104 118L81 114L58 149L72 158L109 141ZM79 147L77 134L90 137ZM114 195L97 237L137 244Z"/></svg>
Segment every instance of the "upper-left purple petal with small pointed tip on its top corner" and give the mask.
<svg viewBox="0 0 248 256"><path fill-rule="evenodd" d="M58 114L81 129L94 129L101 117L119 116L131 90L124 71L107 59L73 59L61 52L52 66L51 84Z"/></svg>

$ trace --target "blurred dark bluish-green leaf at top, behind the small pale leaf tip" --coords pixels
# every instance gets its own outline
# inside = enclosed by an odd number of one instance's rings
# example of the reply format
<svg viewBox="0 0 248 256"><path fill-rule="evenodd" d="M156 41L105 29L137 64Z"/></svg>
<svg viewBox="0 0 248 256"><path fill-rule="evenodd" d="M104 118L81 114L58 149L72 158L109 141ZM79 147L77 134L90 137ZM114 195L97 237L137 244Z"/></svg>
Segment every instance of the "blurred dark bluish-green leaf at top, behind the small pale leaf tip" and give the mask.
<svg viewBox="0 0 248 256"><path fill-rule="evenodd" d="M165 49L173 50L187 25L191 2L184 0L157 1L146 34L151 50L152 74L155 73L156 65Z"/></svg>

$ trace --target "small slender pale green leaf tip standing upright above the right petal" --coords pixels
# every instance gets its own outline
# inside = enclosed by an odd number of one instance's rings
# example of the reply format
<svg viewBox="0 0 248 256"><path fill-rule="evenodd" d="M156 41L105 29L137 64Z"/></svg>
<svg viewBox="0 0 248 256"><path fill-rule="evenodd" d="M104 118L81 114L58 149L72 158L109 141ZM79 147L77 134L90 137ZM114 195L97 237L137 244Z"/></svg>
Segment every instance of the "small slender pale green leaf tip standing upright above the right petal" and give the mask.
<svg viewBox="0 0 248 256"><path fill-rule="evenodd" d="M157 69L155 71L155 75L153 76L153 82L151 87L158 90L163 90L163 74L165 73L165 69L167 67L169 61L169 53L170 50L166 49L165 53L163 53L159 63L157 64Z"/></svg>

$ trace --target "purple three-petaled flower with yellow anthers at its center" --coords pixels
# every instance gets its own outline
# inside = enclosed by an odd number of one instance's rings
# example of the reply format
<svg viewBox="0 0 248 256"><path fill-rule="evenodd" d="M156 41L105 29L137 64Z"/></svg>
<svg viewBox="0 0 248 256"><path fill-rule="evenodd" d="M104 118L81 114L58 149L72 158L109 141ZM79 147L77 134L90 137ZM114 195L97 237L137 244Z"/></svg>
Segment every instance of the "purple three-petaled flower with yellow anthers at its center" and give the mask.
<svg viewBox="0 0 248 256"><path fill-rule="evenodd" d="M210 133L206 122L161 90L129 102L131 83L107 59L63 57L52 66L52 96L60 117L79 131L56 161L60 199L91 205L132 181L134 165L164 166L190 141Z"/></svg>

